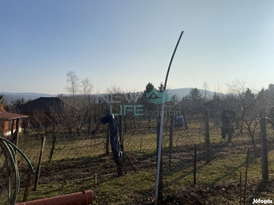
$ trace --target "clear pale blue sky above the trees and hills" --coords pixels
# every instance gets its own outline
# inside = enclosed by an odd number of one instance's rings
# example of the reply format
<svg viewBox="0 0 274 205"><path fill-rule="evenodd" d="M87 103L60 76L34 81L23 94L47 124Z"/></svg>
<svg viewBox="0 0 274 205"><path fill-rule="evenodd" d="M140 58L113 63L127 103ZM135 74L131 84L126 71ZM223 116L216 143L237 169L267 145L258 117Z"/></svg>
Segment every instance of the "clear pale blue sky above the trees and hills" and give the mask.
<svg viewBox="0 0 274 205"><path fill-rule="evenodd" d="M274 83L272 0L0 0L0 92L64 94L69 71L93 93L158 86L181 31L169 88Z"/></svg>

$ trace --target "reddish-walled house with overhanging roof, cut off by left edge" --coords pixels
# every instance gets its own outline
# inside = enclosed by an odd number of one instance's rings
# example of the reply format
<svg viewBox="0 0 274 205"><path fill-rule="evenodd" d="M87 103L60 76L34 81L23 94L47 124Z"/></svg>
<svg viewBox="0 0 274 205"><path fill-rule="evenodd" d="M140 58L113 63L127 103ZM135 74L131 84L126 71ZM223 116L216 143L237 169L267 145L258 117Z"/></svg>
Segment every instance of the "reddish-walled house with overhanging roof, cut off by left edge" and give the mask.
<svg viewBox="0 0 274 205"><path fill-rule="evenodd" d="M27 115L8 113L0 104L0 134L12 135L12 139L16 139L16 135L22 131L23 119L27 117Z"/></svg>

